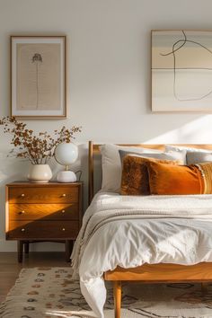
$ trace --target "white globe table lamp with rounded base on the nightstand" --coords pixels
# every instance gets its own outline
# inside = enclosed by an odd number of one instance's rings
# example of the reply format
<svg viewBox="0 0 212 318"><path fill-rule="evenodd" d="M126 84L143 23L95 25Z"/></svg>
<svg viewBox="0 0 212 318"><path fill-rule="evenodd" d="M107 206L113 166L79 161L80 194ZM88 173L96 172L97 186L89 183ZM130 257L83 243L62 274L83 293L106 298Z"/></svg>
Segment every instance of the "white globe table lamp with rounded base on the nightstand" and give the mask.
<svg viewBox="0 0 212 318"><path fill-rule="evenodd" d="M78 147L72 143L59 144L55 149L57 163L66 166L66 170L57 173L58 182L75 182L75 172L69 171L69 165L75 163L78 157Z"/></svg>

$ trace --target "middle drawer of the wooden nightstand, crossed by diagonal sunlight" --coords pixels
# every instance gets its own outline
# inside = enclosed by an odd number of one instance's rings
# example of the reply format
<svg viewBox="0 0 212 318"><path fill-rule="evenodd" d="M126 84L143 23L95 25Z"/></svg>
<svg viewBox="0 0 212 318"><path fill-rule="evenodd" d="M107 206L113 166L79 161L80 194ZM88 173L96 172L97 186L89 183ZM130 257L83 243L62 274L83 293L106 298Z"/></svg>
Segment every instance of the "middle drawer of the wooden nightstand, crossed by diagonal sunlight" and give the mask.
<svg viewBox="0 0 212 318"><path fill-rule="evenodd" d="M77 220L77 203L10 204L9 220Z"/></svg>

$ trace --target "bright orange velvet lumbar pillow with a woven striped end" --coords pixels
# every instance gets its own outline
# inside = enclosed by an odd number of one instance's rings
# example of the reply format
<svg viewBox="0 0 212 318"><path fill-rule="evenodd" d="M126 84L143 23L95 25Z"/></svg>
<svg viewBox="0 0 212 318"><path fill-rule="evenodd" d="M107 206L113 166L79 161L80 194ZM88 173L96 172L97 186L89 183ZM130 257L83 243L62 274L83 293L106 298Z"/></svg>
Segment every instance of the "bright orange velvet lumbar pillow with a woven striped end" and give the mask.
<svg viewBox="0 0 212 318"><path fill-rule="evenodd" d="M212 193L212 163L174 165L146 163L151 194Z"/></svg>

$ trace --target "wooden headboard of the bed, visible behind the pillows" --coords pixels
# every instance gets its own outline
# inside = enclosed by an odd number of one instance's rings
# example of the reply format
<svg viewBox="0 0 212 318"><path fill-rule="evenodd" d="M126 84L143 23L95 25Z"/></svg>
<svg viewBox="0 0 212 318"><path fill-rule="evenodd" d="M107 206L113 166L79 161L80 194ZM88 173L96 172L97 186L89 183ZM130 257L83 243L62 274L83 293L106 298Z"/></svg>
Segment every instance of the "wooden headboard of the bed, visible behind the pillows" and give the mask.
<svg viewBox="0 0 212 318"><path fill-rule="evenodd" d="M146 145L146 144L117 144L118 146L137 146L143 148L152 148L156 150L164 150L165 145ZM171 144L169 144L171 145ZM100 144L93 144L93 141L89 141L89 154L88 154L88 167L89 167L89 184L88 184L88 201L89 204L92 202L94 195L94 165L93 165L93 156L100 155ZM200 148L212 150L212 145L193 145L193 144L175 144L172 146L188 146L192 148Z"/></svg>

